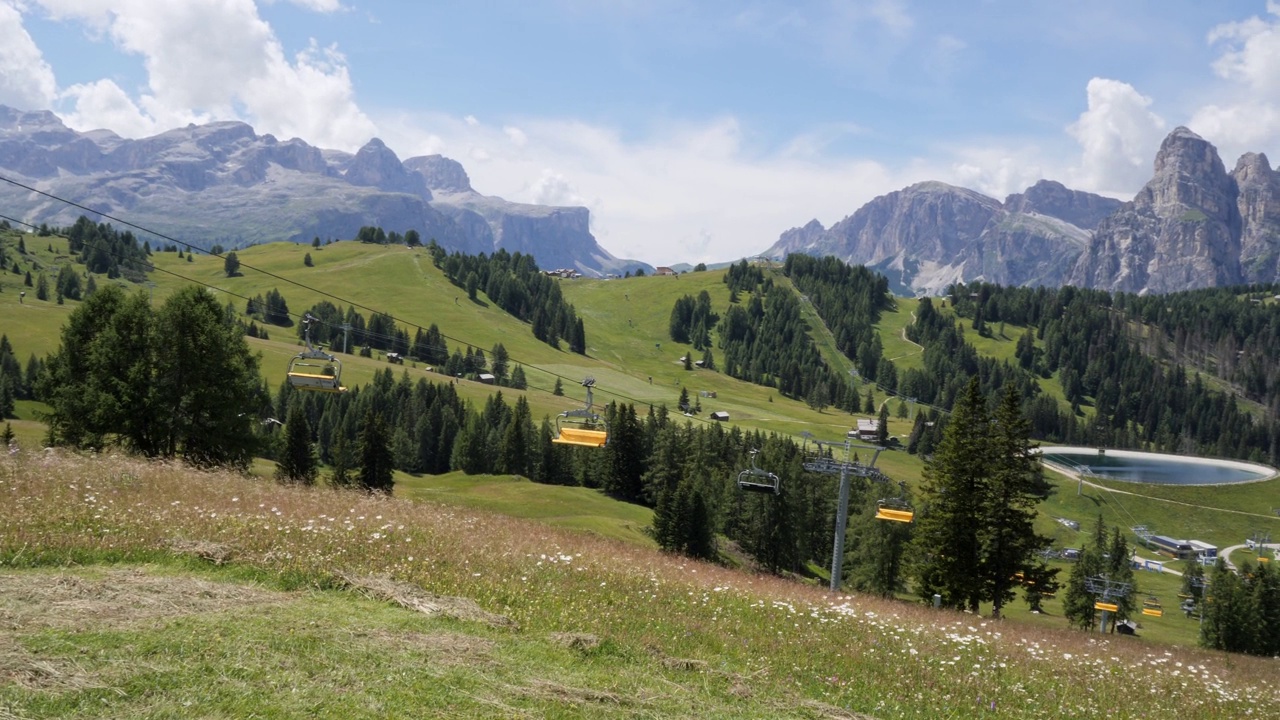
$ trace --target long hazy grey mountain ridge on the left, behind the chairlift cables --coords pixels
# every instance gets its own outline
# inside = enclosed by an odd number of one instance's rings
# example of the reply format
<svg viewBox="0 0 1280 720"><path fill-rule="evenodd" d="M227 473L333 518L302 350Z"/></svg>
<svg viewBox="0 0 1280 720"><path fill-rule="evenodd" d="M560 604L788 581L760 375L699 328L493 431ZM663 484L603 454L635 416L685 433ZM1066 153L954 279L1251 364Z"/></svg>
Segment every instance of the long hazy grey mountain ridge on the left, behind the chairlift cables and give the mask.
<svg viewBox="0 0 1280 720"><path fill-rule="evenodd" d="M352 238L362 225L380 225L416 229L468 254L531 254L543 268L652 270L600 247L586 208L484 196L457 161L401 161L378 138L351 154L218 122L128 140L0 105L0 168L24 184L205 249ZM83 214L9 183L0 183L0 202L33 223L67 225Z"/></svg>

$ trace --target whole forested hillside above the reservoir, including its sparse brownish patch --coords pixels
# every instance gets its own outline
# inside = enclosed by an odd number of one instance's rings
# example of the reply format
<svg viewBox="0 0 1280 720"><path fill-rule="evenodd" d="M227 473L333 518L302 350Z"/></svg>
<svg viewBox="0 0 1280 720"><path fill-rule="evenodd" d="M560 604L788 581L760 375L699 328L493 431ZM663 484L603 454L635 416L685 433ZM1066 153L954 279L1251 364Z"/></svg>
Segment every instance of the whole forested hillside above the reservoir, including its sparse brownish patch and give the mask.
<svg viewBox="0 0 1280 720"><path fill-rule="evenodd" d="M1261 299L1274 302L1275 292L1258 286L1138 297L970 284L955 286L950 300L978 333L1000 323L1034 329L1034 342L1019 343L1018 368L1056 377L1073 410L1056 427L1047 405L1032 413L1044 439L1274 465L1280 387L1271 359L1280 320Z"/></svg>

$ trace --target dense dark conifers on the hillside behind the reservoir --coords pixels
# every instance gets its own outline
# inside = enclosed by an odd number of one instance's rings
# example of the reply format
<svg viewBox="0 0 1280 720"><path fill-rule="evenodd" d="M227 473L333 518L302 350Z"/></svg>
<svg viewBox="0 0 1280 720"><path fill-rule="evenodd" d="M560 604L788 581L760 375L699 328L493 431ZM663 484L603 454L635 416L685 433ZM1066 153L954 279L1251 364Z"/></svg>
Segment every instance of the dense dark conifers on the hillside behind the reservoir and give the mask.
<svg viewBox="0 0 1280 720"><path fill-rule="evenodd" d="M1199 372L1178 360L1176 328L1201 299L1216 299L1216 320L1236 328L1213 337L1248 343L1266 360L1240 365L1271 364L1275 338L1270 323L1248 297L1238 297L1235 309L1224 300L1228 291L1175 293L1157 302L1128 295L1064 287L1005 288L986 283L951 288L956 314L970 319L974 329L991 332L993 323L1014 323L1034 332L1039 343L1019 343L1018 366L1028 377L1051 377L1061 382L1073 411L1050 413L1048 404L1029 409L1037 437L1065 442L1088 442L1170 452L1239 457L1258 462L1280 461L1280 423L1275 413L1251 413L1238 391L1224 391ZM1151 324L1170 310L1170 320ZM1192 323L1189 327L1201 327ZM1155 333L1155 334L1153 334ZM1024 334L1024 338L1027 336ZM919 341L918 341L919 342ZM1225 341L1224 341L1225 342ZM1236 340L1228 345L1235 347ZM1239 351L1236 351L1239 352ZM1244 370L1247 373L1247 370ZM1270 372L1270 370L1268 370ZM1228 378L1229 379L1229 378ZM1275 398L1263 395L1271 404ZM1075 410L1092 405L1083 423Z"/></svg>

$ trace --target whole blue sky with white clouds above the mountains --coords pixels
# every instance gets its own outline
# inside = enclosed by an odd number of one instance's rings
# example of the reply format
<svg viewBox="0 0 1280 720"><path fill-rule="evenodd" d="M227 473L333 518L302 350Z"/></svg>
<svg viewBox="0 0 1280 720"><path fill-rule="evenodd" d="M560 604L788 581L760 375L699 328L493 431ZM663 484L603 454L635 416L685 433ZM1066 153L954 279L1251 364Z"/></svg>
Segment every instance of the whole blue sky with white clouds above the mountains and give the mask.
<svg viewBox="0 0 1280 720"><path fill-rule="evenodd" d="M242 119L486 195L586 205L613 254L762 251L940 179L1123 199L1185 124L1280 140L1266 1L0 0L0 102L142 137Z"/></svg>

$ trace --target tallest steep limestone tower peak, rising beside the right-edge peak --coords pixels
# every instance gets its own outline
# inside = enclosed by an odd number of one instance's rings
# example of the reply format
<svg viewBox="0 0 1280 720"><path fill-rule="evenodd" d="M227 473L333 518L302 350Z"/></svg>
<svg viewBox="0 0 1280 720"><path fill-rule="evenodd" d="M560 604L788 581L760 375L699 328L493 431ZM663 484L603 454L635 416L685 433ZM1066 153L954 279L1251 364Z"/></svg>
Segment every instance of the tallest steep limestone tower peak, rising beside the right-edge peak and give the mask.
<svg viewBox="0 0 1280 720"><path fill-rule="evenodd" d="M1124 292L1176 292L1243 281L1236 179L1187 128L1165 138L1155 177L1103 220L1068 282Z"/></svg>

